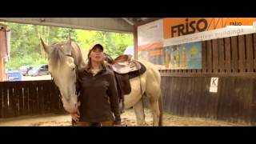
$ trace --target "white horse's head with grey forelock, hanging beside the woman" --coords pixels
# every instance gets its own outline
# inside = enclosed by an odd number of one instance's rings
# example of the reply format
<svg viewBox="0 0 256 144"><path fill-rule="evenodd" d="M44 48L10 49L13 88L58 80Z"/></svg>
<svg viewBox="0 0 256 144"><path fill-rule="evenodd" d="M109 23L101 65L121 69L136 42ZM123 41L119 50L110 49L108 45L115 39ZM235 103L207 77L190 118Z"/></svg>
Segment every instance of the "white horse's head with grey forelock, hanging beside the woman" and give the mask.
<svg viewBox="0 0 256 144"><path fill-rule="evenodd" d="M78 111L78 96L76 94L76 69L79 65L76 57L78 57L78 52L75 52L76 49L70 38L67 42L56 42L52 45L46 45L42 39L41 42L48 54L50 74L62 95L63 107L69 113L76 113Z"/></svg>

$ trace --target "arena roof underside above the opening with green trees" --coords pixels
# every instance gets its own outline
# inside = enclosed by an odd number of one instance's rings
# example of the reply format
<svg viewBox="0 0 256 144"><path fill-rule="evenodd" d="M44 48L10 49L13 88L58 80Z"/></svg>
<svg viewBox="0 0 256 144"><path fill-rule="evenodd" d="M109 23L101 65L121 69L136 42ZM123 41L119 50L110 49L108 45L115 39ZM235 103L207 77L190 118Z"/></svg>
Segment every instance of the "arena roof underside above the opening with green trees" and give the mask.
<svg viewBox="0 0 256 144"><path fill-rule="evenodd" d="M17 22L43 26L60 26L84 30L132 33L134 26L155 18L0 18L0 22Z"/></svg>

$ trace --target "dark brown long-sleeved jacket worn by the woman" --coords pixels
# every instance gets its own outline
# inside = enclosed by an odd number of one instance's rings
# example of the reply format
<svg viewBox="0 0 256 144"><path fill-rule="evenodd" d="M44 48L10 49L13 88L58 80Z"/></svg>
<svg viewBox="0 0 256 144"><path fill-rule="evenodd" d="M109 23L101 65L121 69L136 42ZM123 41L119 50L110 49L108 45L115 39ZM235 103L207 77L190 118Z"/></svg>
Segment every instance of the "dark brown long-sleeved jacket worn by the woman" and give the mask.
<svg viewBox="0 0 256 144"><path fill-rule="evenodd" d="M112 70L104 68L95 76L90 70L78 70L78 90L81 92L80 121L121 123L118 90Z"/></svg>

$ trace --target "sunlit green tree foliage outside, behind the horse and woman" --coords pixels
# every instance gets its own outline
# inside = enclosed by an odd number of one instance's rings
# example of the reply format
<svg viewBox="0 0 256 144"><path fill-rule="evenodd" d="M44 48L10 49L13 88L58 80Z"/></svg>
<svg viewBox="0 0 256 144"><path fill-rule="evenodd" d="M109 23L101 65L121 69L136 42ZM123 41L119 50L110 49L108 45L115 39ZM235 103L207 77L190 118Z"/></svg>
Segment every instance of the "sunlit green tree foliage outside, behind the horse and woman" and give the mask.
<svg viewBox="0 0 256 144"><path fill-rule="evenodd" d="M75 30L61 27L35 26L16 23L6 23L11 30L10 61L6 68L18 69L24 65L38 65L48 63L43 58L39 38L46 42L66 41L69 34L74 42L84 49L90 49L94 44L100 43L104 51L113 58L122 54L127 46L133 45L132 34L110 33L95 30ZM49 32L49 34L47 34Z"/></svg>

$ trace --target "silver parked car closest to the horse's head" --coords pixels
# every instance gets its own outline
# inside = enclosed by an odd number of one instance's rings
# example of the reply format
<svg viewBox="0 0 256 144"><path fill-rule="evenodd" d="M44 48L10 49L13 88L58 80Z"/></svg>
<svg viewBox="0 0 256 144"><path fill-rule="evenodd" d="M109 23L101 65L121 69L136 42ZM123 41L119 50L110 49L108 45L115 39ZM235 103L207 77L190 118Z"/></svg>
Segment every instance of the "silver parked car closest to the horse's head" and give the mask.
<svg viewBox="0 0 256 144"><path fill-rule="evenodd" d="M50 72L48 70L48 65L43 64L39 66L34 66L31 70L29 70L28 74L30 76L39 76L39 75L50 74Z"/></svg>

